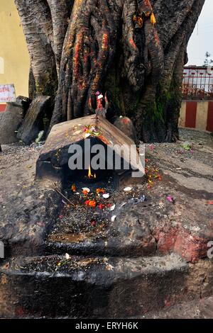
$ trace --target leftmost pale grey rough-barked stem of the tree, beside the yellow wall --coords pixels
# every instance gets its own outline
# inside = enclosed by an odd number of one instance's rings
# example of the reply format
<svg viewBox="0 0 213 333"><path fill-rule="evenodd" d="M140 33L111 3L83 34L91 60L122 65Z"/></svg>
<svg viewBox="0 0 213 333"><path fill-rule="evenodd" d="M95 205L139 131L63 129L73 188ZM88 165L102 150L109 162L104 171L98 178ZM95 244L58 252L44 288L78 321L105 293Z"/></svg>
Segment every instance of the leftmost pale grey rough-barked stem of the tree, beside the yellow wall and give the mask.
<svg viewBox="0 0 213 333"><path fill-rule="evenodd" d="M43 0L15 0L31 58L37 94L52 95L57 90L53 24Z"/></svg>

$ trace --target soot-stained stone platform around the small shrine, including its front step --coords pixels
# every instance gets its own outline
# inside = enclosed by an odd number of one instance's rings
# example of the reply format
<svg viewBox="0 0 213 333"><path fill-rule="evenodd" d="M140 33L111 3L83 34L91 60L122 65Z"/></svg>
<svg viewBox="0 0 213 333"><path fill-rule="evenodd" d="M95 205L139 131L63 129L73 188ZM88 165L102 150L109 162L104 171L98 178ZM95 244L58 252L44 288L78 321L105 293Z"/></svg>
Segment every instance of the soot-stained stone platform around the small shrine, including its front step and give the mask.
<svg viewBox="0 0 213 333"><path fill-rule="evenodd" d="M210 135L195 131L184 130L181 137L176 144L146 145L147 179L152 174L153 184L131 184L135 196L146 196L146 203L115 210L116 233L101 241L104 247L99 252L94 234L91 239L82 234L81 242L71 237L70 242L69 229L64 242L58 242L59 234L50 239L62 223L58 220L62 198L51 182L33 182L40 148L2 145L0 239L6 257L1 260L0 316L99 317L106 313L117 317L123 313L124 317L141 317L149 313L155 317L173 305L181 307L182 302L188 304L187 316L195 316L197 305L190 312L190 304L200 304L213 294L212 260L207 257L208 242L213 240L213 141ZM182 147L185 142L190 150ZM125 197L121 188L116 203L132 196ZM77 264L75 272L53 274L50 258L59 260L65 252L72 252L94 261L94 249L104 259L104 269L100 265L95 273L94 266L82 270ZM49 271L45 266L35 268L40 258L49 262ZM24 261L33 263L28 271ZM119 269L119 262L124 269ZM180 313L171 310L173 315Z"/></svg>

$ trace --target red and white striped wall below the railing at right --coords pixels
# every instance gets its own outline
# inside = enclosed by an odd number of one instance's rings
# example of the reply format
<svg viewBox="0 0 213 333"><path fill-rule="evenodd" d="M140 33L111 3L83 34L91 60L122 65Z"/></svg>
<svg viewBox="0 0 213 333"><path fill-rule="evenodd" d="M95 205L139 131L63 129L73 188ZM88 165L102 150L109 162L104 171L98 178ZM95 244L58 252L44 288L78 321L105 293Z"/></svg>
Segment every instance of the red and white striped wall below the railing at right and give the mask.
<svg viewBox="0 0 213 333"><path fill-rule="evenodd" d="M182 101L179 125L213 132L213 101Z"/></svg>

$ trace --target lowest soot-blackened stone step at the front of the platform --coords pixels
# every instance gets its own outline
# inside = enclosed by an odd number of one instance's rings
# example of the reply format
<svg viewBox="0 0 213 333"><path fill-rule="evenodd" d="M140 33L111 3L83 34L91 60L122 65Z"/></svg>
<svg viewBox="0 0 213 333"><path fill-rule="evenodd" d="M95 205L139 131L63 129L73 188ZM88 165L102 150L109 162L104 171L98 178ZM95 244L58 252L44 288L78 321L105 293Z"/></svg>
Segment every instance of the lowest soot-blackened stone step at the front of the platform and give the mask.
<svg viewBox="0 0 213 333"><path fill-rule="evenodd" d="M135 317L180 302L180 256L19 257L1 267L1 317Z"/></svg>

